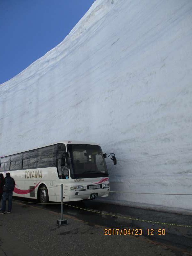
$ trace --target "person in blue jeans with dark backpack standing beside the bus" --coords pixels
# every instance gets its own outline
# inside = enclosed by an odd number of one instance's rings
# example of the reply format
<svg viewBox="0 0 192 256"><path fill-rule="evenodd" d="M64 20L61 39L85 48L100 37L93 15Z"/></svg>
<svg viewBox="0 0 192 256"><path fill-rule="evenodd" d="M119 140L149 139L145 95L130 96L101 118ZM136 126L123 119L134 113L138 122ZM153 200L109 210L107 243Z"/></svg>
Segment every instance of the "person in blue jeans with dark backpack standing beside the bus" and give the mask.
<svg viewBox="0 0 192 256"><path fill-rule="evenodd" d="M7 197L9 201L7 213L10 213L12 209L12 196L13 196L13 190L15 188L15 181L13 178L11 178L11 175L9 172L6 173L5 179L3 181L3 186L4 186L3 187L3 203L2 203L1 214L5 213Z"/></svg>

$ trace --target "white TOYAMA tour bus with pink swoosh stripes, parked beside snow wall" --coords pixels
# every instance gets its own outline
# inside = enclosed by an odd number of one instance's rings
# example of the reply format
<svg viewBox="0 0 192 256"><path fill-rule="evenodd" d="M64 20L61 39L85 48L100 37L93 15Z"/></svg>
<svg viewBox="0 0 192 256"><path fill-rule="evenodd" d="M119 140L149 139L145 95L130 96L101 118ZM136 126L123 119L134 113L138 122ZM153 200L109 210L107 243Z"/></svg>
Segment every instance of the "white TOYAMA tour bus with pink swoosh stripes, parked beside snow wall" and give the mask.
<svg viewBox="0 0 192 256"><path fill-rule="evenodd" d="M60 202L63 184L64 202L94 199L109 194L105 157L99 144L63 141L0 157L0 172L15 180L13 196Z"/></svg>

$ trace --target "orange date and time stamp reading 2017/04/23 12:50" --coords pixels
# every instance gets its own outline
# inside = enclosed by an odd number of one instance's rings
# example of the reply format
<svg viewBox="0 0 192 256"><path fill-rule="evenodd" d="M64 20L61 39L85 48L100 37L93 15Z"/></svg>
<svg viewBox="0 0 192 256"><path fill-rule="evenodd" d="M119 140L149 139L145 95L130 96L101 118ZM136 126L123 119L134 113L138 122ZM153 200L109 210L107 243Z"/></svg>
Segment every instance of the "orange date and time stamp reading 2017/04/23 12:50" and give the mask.
<svg viewBox="0 0 192 256"><path fill-rule="evenodd" d="M141 236L141 235L148 235L148 236L164 236L165 235L165 229L164 228L148 228L147 230L143 230L141 228L105 228L104 229L104 235L105 236L115 236L115 235L129 235L129 236Z"/></svg>

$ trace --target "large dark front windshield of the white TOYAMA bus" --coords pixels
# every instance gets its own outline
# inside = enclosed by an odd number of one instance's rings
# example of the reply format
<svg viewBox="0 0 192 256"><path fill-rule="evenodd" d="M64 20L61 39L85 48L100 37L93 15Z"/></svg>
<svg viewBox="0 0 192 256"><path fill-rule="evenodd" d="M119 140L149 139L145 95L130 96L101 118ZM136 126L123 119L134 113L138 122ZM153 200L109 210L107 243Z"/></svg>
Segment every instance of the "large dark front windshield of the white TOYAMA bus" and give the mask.
<svg viewBox="0 0 192 256"><path fill-rule="evenodd" d="M68 144L71 178L94 178L108 176L105 159L100 146Z"/></svg>

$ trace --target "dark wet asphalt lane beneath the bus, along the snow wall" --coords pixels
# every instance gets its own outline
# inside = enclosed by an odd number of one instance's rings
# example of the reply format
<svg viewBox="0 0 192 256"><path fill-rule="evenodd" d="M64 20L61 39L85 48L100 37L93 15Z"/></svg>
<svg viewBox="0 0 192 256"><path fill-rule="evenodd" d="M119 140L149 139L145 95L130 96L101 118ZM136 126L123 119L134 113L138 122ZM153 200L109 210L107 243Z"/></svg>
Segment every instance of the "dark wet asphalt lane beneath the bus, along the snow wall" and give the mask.
<svg viewBox="0 0 192 256"><path fill-rule="evenodd" d="M43 208L42 205L35 204L36 201L30 199L26 200L16 197L14 199L19 200L20 202L26 201L27 203L23 202L25 205ZM103 234L105 233L105 228L111 229L109 233L106 231L106 234L109 235L110 232L112 232L111 236L113 236L113 232L116 233L118 229L120 229L120 231L122 229L127 229L130 230L129 232L134 230L133 235L135 235L136 229L139 229L140 231L138 231L138 233L142 232L142 236L137 236L138 239L143 237L154 244L165 246L177 256L192 255L192 228L183 227L192 227L192 216L106 204L99 202L97 199L70 202L66 204L68 205L64 204L63 207L64 214L76 217L78 220L84 221L89 226L98 225L99 227L103 227ZM61 212L60 204L49 204L44 209L56 213ZM140 220L132 220L132 218ZM170 223L181 226L153 223L144 220ZM162 229L164 229L165 235L160 234ZM120 231L118 231L119 234ZM158 231L160 235L157 234Z"/></svg>

